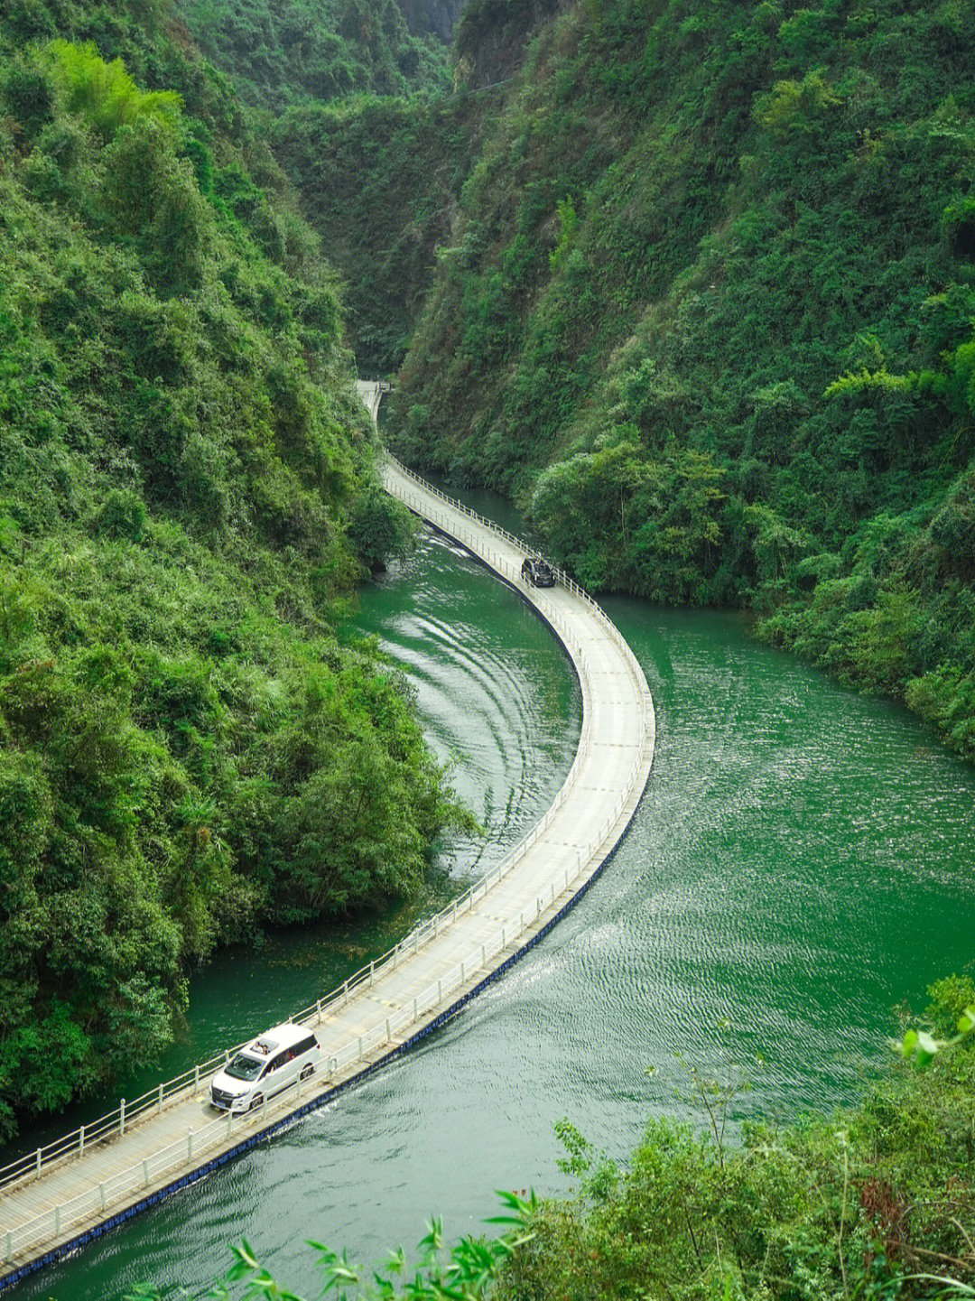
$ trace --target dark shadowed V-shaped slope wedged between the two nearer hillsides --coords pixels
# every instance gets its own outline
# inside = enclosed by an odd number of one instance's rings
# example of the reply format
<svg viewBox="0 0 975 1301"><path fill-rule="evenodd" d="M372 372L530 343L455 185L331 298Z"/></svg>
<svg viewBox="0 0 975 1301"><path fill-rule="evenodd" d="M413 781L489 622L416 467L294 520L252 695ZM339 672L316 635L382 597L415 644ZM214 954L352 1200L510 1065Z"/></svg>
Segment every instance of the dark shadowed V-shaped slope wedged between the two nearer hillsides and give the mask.
<svg viewBox="0 0 975 1301"><path fill-rule="evenodd" d="M463 185L496 129L504 85L553 8L555 0L454 4L454 94L306 103L271 127L275 155L345 280L349 341L363 373L402 363L436 260L454 242Z"/></svg>

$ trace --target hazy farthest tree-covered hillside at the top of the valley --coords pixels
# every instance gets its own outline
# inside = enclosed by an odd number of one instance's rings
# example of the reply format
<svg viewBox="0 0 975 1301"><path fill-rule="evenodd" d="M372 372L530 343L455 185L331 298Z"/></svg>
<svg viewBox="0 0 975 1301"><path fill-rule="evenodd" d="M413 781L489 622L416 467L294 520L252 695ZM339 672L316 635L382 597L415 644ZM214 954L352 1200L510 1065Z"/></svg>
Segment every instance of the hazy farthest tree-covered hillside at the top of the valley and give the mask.
<svg viewBox="0 0 975 1301"><path fill-rule="evenodd" d="M435 36L411 35L397 0L177 0L203 52L247 103L280 112L355 92L448 85Z"/></svg>

